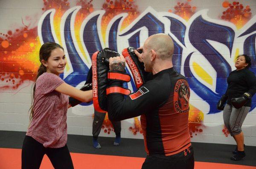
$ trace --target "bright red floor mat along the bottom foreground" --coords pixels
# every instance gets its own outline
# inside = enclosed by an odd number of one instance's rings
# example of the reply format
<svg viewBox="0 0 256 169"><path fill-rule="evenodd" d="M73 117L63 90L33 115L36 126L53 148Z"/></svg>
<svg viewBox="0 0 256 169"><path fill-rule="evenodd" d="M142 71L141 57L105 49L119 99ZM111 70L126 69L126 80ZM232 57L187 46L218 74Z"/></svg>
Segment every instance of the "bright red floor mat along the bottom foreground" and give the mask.
<svg viewBox="0 0 256 169"><path fill-rule="evenodd" d="M145 160L145 158L113 155L70 154L75 169L141 169ZM0 169L20 169L21 149L0 148L0 159ZM44 156L40 169L53 169L52 164L46 155ZM195 162L195 169L256 169L256 167Z"/></svg>

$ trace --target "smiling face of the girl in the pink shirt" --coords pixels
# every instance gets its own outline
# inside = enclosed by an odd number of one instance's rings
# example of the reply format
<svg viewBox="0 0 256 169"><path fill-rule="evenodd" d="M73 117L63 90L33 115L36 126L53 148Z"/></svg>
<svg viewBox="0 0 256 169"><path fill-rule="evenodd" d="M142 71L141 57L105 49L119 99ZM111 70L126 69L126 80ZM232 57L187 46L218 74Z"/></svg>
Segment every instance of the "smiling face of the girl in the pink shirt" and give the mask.
<svg viewBox="0 0 256 169"><path fill-rule="evenodd" d="M42 63L47 67L47 72L59 76L59 74L64 72L67 60L64 51L61 48L56 48L52 50L48 60L42 60Z"/></svg>

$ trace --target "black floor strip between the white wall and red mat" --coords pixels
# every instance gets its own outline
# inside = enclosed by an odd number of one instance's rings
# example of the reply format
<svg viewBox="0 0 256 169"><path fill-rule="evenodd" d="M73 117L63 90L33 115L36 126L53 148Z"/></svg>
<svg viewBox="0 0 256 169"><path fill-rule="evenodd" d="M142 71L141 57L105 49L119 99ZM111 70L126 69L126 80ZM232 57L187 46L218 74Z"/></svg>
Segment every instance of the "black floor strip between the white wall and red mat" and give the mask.
<svg viewBox="0 0 256 169"><path fill-rule="evenodd" d="M0 147L21 149L26 132L0 131ZM70 152L117 155L127 157L146 157L142 139L122 138L119 146L114 146L113 137L99 137L102 149L93 148L93 137L84 135L68 135L67 146ZM229 163L246 166L256 166L256 146L246 146L246 157L241 161L230 160L235 145L192 143L195 161L212 163Z"/></svg>

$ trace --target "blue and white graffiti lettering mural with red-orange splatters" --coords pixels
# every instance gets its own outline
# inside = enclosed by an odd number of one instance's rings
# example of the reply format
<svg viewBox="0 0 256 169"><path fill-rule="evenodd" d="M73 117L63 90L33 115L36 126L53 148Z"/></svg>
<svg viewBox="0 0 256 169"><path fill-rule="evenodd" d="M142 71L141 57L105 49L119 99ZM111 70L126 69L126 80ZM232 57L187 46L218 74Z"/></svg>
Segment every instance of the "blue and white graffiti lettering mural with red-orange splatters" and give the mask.
<svg viewBox="0 0 256 169"><path fill-rule="evenodd" d="M94 52L108 47L121 53L128 46L142 46L152 34L165 33L175 43L175 70L188 79L192 98L204 103L202 106L191 101L189 105L193 137L193 133L203 132L205 116L220 112L216 103L227 89L235 57L248 54L250 69L256 73L256 16L246 4L223 1L222 13L213 19L208 16L209 9L198 10L192 0L177 2L173 9L165 11L156 11L154 6L139 10L136 0L105 0L101 9L94 8L93 0L79 0L72 7L68 0L43 2L36 27L28 29L24 25L0 34L0 90L18 91L26 80L34 80L43 43L51 41L64 47L68 64L61 78L79 86L87 77ZM126 70L131 74L128 67ZM125 87L134 92L137 89L133 80ZM255 107L253 97L250 111ZM141 133L138 122L138 117L134 118L134 126L128 128L134 135ZM113 131L108 120L103 128L108 133ZM222 132L227 136L226 129Z"/></svg>

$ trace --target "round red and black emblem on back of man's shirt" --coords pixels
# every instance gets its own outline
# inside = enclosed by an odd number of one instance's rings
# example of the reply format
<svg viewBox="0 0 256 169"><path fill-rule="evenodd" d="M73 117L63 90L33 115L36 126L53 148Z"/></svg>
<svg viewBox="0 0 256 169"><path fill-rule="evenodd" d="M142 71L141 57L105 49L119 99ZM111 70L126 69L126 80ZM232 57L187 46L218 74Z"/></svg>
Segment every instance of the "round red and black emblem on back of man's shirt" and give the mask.
<svg viewBox="0 0 256 169"><path fill-rule="evenodd" d="M174 88L173 103L175 112L188 113L189 112L189 96L190 89L186 80L177 80Z"/></svg>

